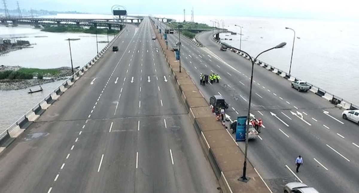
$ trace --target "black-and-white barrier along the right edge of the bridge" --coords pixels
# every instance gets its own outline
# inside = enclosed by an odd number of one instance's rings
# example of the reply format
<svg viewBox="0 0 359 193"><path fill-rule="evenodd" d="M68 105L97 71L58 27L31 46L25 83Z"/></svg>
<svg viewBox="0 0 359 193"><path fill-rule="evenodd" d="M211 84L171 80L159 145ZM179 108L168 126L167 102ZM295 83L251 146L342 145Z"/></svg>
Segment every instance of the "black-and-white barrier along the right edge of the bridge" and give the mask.
<svg viewBox="0 0 359 193"><path fill-rule="evenodd" d="M211 39L212 39L214 42L216 42L216 43L218 43L218 44L221 44L221 41L214 39L213 36L211 36ZM236 50L236 49L234 49L234 48L230 48L230 49L234 50L234 52L236 52L238 55L241 55L242 57L246 58L247 60L250 60L250 56L248 56L246 53L243 53L243 52L241 52L241 51L239 51L239 50ZM255 59L255 58L252 57L252 60L254 60L254 59ZM294 80L301 80L301 79L299 79L298 77L292 76L292 75L290 75L288 72L285 72L284 70L280 70L280 69L278 69L277 67L272 66L272 65L270 65L270 64L268 64L268 63L265 63L265 62L263 62L263 61L256 60L255 63L256 63L257 65L261 65L262 67L264 67L264 68L266 68L266 69L268 69L268 70L274 72L274 73L277 74L277 75L280 75L280 76L284 77L284 78L287 79L287 80L293 80L293 81L294 81ZM303 81L304 81L304 80L303 80ZM327 95L328 97L331 97L331 99L328 99L328 100L329 100L330 102L332 102L333 104L335 104L335 103L334 103L334 100L336 100L336 101L337 101L336 104L340 104L341 107L345 107L346 109L359 109L359 105L354 104L354 103L350 102L349 100L346 100L346 99L344 99L344 98L342 98L342 97L340 97L340 96L338 96L338 95L332 94L332 93L330 93L330 92L328 92L328 91L326 91L326 90L324 90L324 89L321 89L320 86L316 86L316 85L311 84L311 83L308 83L308 82L306 82L306 83L307 83L309 86L311 86L311 91L312 91L313 93L316 93L316 94L318 93L319 96L325 96L325 95Z"/></svg>

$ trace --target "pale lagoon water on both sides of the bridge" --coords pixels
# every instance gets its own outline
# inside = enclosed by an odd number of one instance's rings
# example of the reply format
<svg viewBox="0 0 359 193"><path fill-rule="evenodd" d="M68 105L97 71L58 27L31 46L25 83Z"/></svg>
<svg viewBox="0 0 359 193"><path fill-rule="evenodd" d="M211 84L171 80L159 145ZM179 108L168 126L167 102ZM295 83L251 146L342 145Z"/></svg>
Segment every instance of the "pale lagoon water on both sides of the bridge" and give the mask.
<svg viewBox="0 0 359 193"><path fill-rule="evenodd" d="M146 14L130 15L147 16ZM183 15L154 16L183 20ZM112 18L111 15L104 14L59 14L47 17ZM186 15L186 18L190 19L190 15ZM238 33L232 36L221 34L221 38L233 38L232 41L227 42L238 48L240 30L234 24L242 25L242 50L253 56L280 42L287 42L285 48L267 52L259 57L260 60L286 72L289 71L293 32L285 27L295 29L296 37L300 39L295 38L292 75L359 104L358 22L195 15L195 22L211 26L210 20L215 19L218 19L221 24L220 20L224 20L225 28ZM28 38L20 39L36 43L36 45L33 45L34 48L25 48L0 56L0 65L44 69L71 66L69 44L64 40L67 38L80 38L78 41L71 42L74 66L83 66L97 54L94 34L50 33L33 29L32 26L4 27L0 25L0 37L11 39L18 36L28 36ZM110 34L109 39L112 38ZM107 41L107 35L98 35L98 41ZM101 50L106 43L99 43L98 46ZM60 83L48 83L43 86L43 93L33 95L28 95L25 89L0 91L0 131L19 119ZM10 99L12 103L9 103Z"/></svg>

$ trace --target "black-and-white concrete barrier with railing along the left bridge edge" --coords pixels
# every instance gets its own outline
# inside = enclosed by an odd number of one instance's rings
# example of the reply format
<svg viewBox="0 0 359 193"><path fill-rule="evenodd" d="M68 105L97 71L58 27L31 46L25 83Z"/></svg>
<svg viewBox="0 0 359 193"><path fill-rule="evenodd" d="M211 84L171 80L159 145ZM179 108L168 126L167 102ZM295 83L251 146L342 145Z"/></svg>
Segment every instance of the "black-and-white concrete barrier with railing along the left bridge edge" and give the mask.
<svg viewBox="0 0 359 193"><path fill-rule="evenodd" d="M125 27L126 28L126 27ZM123 29L125 29L123 28ZM23 116L21 116L16 122L10 125L6 130L0 133L0 146L6 147L19 136L24 130L26 130L31 123L36 121L45 110L50 107L67 89L69 89L90 67L95 65L96 61L103 56L103 54L111 47L111 45L122 34L122 31L116 35L95 57L87 62L79 70L75 71L73 75L68 77L59 86L52 90L45 98L34 105L33 108L28 110Z"/></svg>

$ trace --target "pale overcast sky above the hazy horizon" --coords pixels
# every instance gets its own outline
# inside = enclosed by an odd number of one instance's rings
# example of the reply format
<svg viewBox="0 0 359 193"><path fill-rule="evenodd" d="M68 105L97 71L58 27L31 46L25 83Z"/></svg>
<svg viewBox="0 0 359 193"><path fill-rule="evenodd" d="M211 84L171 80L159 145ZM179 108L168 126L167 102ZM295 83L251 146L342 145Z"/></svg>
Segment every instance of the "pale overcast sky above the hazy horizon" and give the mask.
<svg viewBox="0 0 359 193"><path fill-rule="evenodd" d="M110 13L111 6L120 4L129 14L190 14L232 15L289 18L359 19L357 0L18 0L22 9ZM16 8L16 0L7 0L8 8ZM2 5L2 3L1 3ZM2 6L1 6L2 7Z"/></svg>

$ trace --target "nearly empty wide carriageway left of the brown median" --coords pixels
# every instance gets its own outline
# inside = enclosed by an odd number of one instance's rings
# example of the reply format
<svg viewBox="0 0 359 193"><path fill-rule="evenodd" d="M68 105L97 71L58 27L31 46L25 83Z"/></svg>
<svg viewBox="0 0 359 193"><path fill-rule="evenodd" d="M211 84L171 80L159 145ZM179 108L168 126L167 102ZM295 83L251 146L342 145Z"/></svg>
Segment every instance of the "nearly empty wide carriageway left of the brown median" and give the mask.
<svg viewBox="0 0 359 193"><path fill-rule="evenodd" d="M6 192L217 192L173 80L163 79L167 64L147 52L158 47L151 30L148 20L129 25L120 51L107 52L23 134L45 136L21 137L0 155Z"/></svg>

